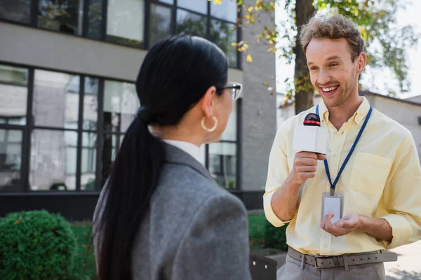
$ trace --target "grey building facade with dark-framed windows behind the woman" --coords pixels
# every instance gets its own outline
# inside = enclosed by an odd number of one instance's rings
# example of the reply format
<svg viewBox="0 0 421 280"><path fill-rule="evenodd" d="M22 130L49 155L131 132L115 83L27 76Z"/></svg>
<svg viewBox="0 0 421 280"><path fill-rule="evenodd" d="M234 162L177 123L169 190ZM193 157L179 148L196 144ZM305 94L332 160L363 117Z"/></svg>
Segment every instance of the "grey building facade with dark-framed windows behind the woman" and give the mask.
<svg viewBox="0 0 421 280"><path fill-rule="evenodd" d="M248 209L261 209L276 132L275 97L263 82L275 57L255 42L264 22L239 27L239 17L234 0L0 1L0 216L47 209L91 218L140 105L142 59L180 33L220 46L229 80L243 83L222 140L202 146L201 161ZM241 40L255 62L232 45Z"/></svg>

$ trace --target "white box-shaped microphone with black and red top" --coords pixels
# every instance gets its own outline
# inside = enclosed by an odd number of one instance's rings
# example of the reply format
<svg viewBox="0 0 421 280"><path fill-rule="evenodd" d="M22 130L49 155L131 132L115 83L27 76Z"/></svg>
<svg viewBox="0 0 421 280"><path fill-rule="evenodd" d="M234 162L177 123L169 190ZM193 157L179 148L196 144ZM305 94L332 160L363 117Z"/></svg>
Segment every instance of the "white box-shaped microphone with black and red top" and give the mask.
<svg viewBox="0 0 421 280"><path fill-rule="evenodd" d="M302 125L294 129L293 151L326 154L328 130L320 126L320 117L315 113L305 116Z"/></svg>

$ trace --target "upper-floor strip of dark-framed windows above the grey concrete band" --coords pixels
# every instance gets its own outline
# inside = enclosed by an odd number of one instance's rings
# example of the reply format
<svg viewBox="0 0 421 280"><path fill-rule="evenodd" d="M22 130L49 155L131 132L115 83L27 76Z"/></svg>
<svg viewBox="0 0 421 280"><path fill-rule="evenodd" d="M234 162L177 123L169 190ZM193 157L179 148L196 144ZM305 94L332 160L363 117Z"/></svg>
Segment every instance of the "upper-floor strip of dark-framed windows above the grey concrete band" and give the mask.
<svg viewBox="0 0 421 280"><path fill-rule="evenodd" d="M238 52L231 44L239 41L238 13L236 0L221 4L208 0L0 0L0 20L135 48L149 48L171 34L208 38L226 53L229 66L235 68Z"/></svg>

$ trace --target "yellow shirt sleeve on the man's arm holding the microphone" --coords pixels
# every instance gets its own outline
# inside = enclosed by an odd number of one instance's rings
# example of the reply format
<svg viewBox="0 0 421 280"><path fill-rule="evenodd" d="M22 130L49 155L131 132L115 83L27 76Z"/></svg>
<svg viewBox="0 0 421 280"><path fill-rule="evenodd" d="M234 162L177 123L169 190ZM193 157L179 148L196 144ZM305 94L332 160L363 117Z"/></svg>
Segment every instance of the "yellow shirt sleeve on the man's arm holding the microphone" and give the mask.
<svg viewBox="0 0 421 280"><path fill-rule="evenodd" d="M263 195L263 209L265 216L269 223L275 227L281 227L290 221L282 221L276 216L272 209L272 195L274 192L281 188L283 182L289 174L288 159L286 153L286 137L284 137L286 127L281 127L276 133L274 144L269 155L269 167L267 171L267 180L265 186L265 195Z"/></svg>

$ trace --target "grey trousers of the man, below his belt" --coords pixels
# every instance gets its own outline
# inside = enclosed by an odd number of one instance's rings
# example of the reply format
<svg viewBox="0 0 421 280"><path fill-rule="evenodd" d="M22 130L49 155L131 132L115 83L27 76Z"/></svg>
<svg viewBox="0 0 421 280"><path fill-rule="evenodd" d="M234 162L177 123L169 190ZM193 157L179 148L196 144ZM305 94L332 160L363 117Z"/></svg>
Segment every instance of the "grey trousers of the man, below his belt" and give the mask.
<svg viewBox="0 0 421 280"><path fill-rule="evenodd" d="M285 263L278 269L277 280L384 280L385 265L383 262L368 265L349 265L349 271L344 267L320 269L286 256Z"/></svg>

